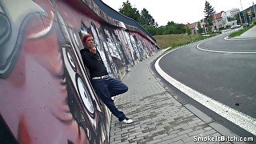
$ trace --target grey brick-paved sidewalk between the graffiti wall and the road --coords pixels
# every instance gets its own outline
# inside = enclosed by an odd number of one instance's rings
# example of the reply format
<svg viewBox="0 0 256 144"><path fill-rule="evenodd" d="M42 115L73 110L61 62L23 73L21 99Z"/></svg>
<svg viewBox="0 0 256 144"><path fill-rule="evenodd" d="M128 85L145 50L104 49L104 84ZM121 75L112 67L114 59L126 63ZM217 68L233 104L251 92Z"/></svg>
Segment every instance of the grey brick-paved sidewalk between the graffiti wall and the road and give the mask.
<svg viewBox="0 0 256 144"><path fill-rule="evenodd" d="M133 118L134 123L122 124L113 116L110 125L110 144L194 143L194 136L224 135L218 131L231 134L206 114L201 114L204 115L203 118L198 118L198 114L195 115L188 109L193 106L183 106L165 90L161 80L155 78L154 72L150 69L151 62L162 52L163 50L139 62L123 79L129 90L126 94L116 97L114 102L129 118Z"/></svg>

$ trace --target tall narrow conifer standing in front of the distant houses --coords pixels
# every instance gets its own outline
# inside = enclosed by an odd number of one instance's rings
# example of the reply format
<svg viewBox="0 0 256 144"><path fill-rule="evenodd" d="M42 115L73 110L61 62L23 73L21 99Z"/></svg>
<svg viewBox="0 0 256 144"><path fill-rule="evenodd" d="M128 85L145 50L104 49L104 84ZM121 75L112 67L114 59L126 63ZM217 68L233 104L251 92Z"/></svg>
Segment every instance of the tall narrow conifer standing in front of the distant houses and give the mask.
<svg viewBox="0 0 256 144"><path fill-rule="evenodd" d="M205 9L203 12L205 13L206 27L208 28L208 30L211 30L210 26L213 26L213 17L214 17L215 11L214 11L214 7L210 5L210 2L206 1Z"/></svg>

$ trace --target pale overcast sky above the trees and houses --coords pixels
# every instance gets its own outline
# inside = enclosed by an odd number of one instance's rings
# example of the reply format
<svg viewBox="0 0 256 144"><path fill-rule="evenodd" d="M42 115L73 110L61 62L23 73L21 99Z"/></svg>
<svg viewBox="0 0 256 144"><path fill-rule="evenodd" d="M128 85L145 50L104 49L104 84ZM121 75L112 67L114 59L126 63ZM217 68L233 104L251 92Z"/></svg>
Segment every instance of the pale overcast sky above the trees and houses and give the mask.
<svg viewBox="0 0 256 144"><path fill-rule="evenodd" d="M126 0L102 0L108 6L117 10L122 7L122 2ZM206 0L129 0L131 6L138 9L139 12L143 8L149 11L150 15L158 22L158 26L166 26L167 22L174 21L176 23L186 24L193 23L204 18L204 7ZM208 0L210 5L218 13L233 8L245 10L249 6L256 3L256 0Z"/></svg>

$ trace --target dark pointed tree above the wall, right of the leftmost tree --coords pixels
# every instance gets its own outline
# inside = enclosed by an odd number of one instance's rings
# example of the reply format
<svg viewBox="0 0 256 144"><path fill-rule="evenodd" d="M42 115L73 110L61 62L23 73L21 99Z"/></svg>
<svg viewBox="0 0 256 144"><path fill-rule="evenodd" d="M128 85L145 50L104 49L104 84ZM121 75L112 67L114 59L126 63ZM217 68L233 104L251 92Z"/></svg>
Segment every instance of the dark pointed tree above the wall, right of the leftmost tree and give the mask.
<svg viewBox="0 0 256 144"><path fill-rule="evenodd" d="M147 25L147 26L156 26L156 23L154 22L154 18L149 14L149 11L146 10L145 8L143 8L141 12L140 24Z"/></svg>

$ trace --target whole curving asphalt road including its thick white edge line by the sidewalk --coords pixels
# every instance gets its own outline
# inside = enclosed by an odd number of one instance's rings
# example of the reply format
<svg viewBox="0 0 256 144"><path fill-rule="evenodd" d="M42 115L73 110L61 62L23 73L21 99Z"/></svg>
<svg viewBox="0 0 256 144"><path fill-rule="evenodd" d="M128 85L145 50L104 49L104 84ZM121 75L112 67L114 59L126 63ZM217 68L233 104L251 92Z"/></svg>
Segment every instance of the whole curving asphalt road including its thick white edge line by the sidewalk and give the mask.
<svg viewBox="0 0 256 144"><path fill-rule="evenodd" d="M226 35L165 54L155 68L190 98L256 135L256 41L226 41Z"/></svg>

